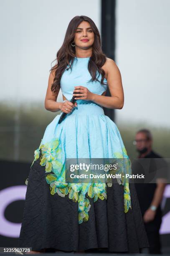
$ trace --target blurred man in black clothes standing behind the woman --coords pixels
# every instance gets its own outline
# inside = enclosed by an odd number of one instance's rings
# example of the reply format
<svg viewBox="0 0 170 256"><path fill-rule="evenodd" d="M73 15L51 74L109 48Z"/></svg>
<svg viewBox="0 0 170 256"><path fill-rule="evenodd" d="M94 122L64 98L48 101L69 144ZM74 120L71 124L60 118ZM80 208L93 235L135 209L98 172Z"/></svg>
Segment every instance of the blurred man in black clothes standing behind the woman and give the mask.
<svg viewBox="0 0 170 256"><path fill-rule="evenodd" d="M149 171L143 167L139 160L132 163L132 173L141 174L144 172L145 181L134 181L137 197L139 199L142 217L150 243L149 253L161 253L160 242L160 225L162 222L161 201L166 186L167 164L162 156L155 153L152 149L152 135L147 129L142 129L135 136L136 150L138 151L138 159L146 159L149 162ZM160 160L159 160L159 159ZM160 168L157 169L157 161L159 160ZM152 180L158 174L156 183ZM140 183L138 183L140 182ZM150 183L149 183L150 182Z"/></svg>

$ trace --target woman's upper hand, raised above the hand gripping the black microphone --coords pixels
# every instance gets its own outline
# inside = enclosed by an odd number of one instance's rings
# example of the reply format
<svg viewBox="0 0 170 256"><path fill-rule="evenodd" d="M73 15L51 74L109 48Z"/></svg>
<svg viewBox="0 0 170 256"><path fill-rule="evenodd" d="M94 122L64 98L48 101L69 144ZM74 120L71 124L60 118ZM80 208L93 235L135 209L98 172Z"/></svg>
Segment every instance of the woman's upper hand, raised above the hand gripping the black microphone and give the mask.
<svg viewBox="0 0 170 256"><path fill-rule="evenodd" d="M77 96L75 97L76 100L92 100L94 93L90 92L86 87L79 85L75 86L74 88L73 96ZM79 93L74 94L74 92ZM82 95L83 97L81 97Z"/></svg>

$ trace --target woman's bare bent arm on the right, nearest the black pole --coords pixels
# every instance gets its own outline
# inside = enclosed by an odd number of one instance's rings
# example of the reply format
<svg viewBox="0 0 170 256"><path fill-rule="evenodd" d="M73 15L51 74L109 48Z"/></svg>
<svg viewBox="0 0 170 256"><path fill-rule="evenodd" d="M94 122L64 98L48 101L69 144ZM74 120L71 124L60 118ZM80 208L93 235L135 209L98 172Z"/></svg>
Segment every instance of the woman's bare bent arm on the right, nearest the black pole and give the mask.
<svg viewBox="0 0 170 256"><path fill-rule="evenodd" d="M119 68L115 62L109 58L107 58L105 65L111 97L92 93L91 100L105 108L122 109L124 105L124 92Z"/></svg>

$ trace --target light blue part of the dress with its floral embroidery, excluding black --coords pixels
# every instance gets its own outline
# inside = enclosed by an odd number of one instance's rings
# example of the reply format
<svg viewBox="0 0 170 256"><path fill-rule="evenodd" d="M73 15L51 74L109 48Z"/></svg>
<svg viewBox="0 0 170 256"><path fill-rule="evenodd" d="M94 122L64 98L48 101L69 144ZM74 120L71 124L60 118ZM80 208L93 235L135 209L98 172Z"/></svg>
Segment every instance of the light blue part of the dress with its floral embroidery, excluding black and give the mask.
<svg viewBox="0 0 170 256"><path fill-rule="evenodd" d="M67 100L73 97L74 86L82 85L98 95L107 90L107 85L98 81L88 82L91 79L88 71L89 59L90 57L75 58L72 71L71 69L64 71L61 77L61 91ZM101 74L98 79L101 81ZM104 82L106 83L107 79L104 79ZM65 196L69 191L69 197L79 203L79 224L81 224L83 220L87 221L89 218L90 204L85 196L86 192L89 191L88 195L94 197L95 201L98 197L104 200L107 198L106 184L71 183L67 185L62 183L61 177L64 181L65 174L64 160L66 158L112 159L128 156L117 125L107 115L104 115L102 106L87 100L76 102L78 107L74 108L62 123L58 124L61 112L47 126L41 145L35 152L35 160L39 157L39 149L42 148L41 164L46 165L46 172L51 173L46 177L52 188L51 193ZM124 210L127 212L129 207L131 208L129 184L123 185Z"/></svg>

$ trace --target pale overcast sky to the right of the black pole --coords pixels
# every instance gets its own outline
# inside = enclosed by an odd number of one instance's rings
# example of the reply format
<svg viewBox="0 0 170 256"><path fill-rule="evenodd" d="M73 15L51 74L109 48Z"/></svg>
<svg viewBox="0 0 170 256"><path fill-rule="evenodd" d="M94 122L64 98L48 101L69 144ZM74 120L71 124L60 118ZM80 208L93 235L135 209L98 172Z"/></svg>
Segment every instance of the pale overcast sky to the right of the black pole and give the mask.
<svg viewBox="0 0 170 256"><path fill-rule="evenodd" d="M170 126L170 1L117 1L116 62L124 107L117 120Z"/></svg>

